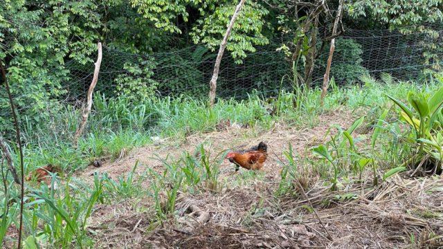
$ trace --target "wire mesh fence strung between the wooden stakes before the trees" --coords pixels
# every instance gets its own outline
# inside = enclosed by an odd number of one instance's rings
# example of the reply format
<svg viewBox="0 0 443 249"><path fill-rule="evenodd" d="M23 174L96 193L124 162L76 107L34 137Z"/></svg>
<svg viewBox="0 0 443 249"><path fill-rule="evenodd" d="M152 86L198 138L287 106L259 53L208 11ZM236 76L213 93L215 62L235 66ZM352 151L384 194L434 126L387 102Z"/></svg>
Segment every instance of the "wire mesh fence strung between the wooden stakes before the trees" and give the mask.
<svg viewBox="0 0 443 249"><path fill-rule="evenodd" d="M440 62L429 61L424 53L426 43L439 46L442 40L428 38L423 32L403 34L391 30L346 30L337 39L331 76L339 84L356 83L363 74L378 77L380 73L390 73L399 80L418 80L426 73L424 69L440 67ZM293 64L285 59L282 51L277 50L286 42L290 42L290 39L273 39L269 45L249 53L242 64L236 64L226 53L221 61L217 96L244 98L254 89L264 95L278 93L282 77L292 76L293 72ZM314 64L313 85L323 80L328 51L328 45L319 51ZM433 53L437 57L442 55L442 51L437 49ZM136 86L131 89L132 86L125 81L141 80L137 85L139 88L151 89L159 96L185 94L201 98L208 95L208 82L216 57L216 51L202 45L151 55L125 53L105 47L97 90L112 97L122 94L125 87L127 91L137 89ZM68 68L72 79L69 85L71 89L75 88L75 91L69 89L69 93L81 93L71 96L71 99L79 100L89 87L93 65L71 64ZM302 62L297 70L302 73ZM292 83L286 80L283 87L290 88Z"/></svg>

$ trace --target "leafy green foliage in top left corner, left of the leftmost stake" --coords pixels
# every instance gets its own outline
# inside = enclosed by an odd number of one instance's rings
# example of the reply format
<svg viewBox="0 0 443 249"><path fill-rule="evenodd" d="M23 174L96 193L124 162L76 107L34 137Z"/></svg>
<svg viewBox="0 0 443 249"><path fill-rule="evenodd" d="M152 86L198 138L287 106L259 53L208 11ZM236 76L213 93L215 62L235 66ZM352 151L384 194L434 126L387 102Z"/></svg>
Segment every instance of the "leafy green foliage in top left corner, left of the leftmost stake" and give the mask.
<svg viewBox="0 0 443 249"><path fill-rule="evenodd" d="M100 15L93 1L46 1L36 10L26 1L0 3L0 59L6 62L8 80L18 107L36 122L53 108L53 98L66 92L66 59L90 62L100 35ZM5 92L0 93L0 112L7 111ZM6 121L0 120L1 124ZM3 126L3 125L2 125Z"/></svg>

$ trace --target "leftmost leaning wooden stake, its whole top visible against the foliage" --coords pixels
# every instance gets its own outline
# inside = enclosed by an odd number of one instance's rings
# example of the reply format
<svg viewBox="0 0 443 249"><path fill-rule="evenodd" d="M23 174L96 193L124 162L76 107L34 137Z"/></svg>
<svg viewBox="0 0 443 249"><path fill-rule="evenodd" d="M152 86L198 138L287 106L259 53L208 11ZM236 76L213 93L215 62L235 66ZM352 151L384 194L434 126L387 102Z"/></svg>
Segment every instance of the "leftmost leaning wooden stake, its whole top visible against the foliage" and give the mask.
<svg viewBox="0 0 443 249"><path fill-rule="evenodd" d="M98 47L98 58L97 58L97 62L95 63L96 68L94 69L94 76L92 78L91 86L89 86L87 105L84 106L84 109L82 112L82 122L80 123L80 125L77 128L77 131L75 131L75 134L74 134L74 140L73 140L74 147L78 146L78 138L82 134L83 129L84 129L86 122L88 120L89 113L91 112L92 93L93 93L94 88L96 87L96 84L98 81L98 73L100 72L100 64L102 64L102 44L99 42L97 44L97 47Z"/></svg>

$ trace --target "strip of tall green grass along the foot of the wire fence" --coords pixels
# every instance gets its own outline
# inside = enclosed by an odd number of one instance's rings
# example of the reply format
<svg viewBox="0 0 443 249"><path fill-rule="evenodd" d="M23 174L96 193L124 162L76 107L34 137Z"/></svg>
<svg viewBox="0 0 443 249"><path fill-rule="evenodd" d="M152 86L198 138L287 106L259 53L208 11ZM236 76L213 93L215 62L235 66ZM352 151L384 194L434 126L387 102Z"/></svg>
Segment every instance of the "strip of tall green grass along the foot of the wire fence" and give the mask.
<svg viewBox="0 0 443 249"><path fill-rule="evenodd" d="M315 124L318 113L345 105L347 108L380 107L385 105L383 93L401 98L417 85L409 82L377 82L363 78L363 86L332 89L325 106L318 106L320 91L282 92L277 98L262 99L253 93L246 100L218 100L210 109L206 100L192 98L149 98L131 102L121 96L108 100L94 95L93 111L87 130L73 149L71 136L78 124L80 112L66 105L51 113L50 120L37 126L24 120L26 157L33 165L53 163L63 169L76 170L102 156L116 157L122 149L132 149L152 142L156 136L184 138L191 133L215 131L221 120L231 123L271 129L275 122L299 126ZM296 100L294 102L294 100ZM378 116L379 113L375 113Z"/></svg>

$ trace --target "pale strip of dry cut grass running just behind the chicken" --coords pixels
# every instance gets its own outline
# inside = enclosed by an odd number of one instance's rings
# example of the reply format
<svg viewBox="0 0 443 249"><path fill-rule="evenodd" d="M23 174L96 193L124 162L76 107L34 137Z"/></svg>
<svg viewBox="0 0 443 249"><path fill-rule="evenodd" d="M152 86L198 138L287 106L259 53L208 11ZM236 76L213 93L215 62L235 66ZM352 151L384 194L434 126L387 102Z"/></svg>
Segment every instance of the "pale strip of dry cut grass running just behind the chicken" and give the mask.
<svg viewBox="0 0 443 249"><path fill-rule="evenodd" d="M270 160L266 162L264 171L266 176L278 174L281 168L275 162L275 156L281 157L282 151L288 149L289 143L293 149L303 154L309 147L324 142L327 129L337 124L341 127L348 127L354 121L354 117L348 111L335 111L324 113L318 117L318 126L312 128L295 129L284 124L275 124L270 131L259 131L243 127L224 127L219 131L210 133L196 133L188 136L186 140L174 141L172 139L159 139L153 145L148 145L132 151L128 156L116 160L115 162L105 162L102 167L96 168L92 165L80 172L82 179L92 179L93 172L107 172L111 178L124 175L132 170L138 160L144 167L138 167L137 172L145 172L147 168L158 172L163 171L163 163L159 158L178 158L183 151L195 153L195 148L201 143L208 145L211 154L218 154L219 151L235 147L251 147L258 142L264 141L269 144ZM232 168L227 161L221 165L224 169ZM226 172L225 176L228 174ZM276 175L275 175L276 176Z"/></svg>

